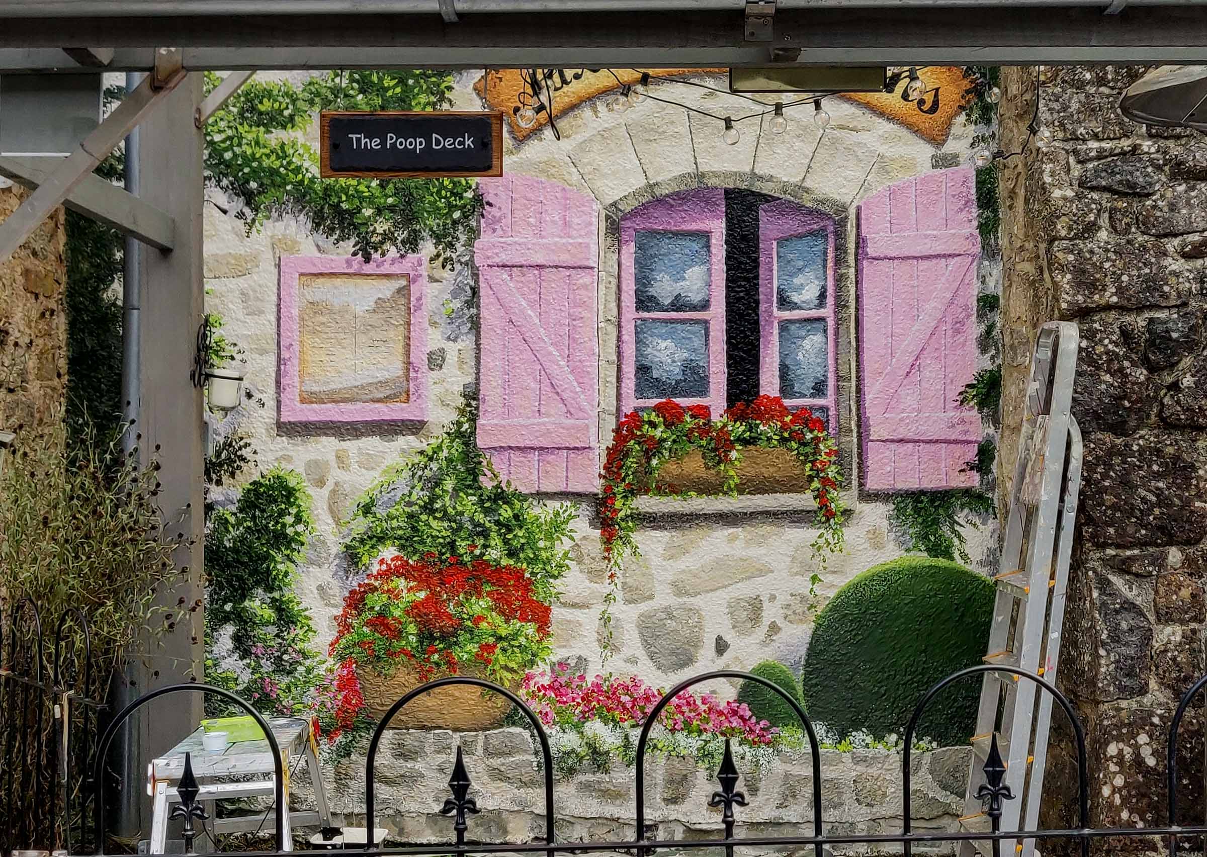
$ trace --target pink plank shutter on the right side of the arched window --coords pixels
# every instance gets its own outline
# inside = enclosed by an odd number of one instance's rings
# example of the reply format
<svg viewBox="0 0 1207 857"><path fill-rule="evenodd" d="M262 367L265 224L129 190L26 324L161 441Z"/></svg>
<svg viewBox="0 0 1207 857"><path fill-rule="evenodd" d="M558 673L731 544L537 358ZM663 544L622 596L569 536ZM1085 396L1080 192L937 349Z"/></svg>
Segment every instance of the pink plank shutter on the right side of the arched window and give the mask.
<svg viewBox="0 0 1207 857"><path fill-rule="evenodd" d="M956 397L976 368L973 170L897 182L859 206L863 488L976 484L981 424Z"/></svg>

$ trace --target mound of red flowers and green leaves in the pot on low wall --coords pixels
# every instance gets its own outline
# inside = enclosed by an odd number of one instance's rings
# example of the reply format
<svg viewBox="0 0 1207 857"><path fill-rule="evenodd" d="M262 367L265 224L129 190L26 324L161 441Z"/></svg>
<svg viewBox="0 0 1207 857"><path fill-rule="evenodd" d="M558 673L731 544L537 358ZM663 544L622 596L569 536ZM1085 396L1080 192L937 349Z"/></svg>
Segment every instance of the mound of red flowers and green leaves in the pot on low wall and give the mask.
<svg viewBox="0 0 1207 857"><path fill-rule="evenodd" d="M485 560L383 559L344 599L331 655L392 675L412 665L421 681L472 666L501 684L549 655L549 605L523 569Z"/></svg>

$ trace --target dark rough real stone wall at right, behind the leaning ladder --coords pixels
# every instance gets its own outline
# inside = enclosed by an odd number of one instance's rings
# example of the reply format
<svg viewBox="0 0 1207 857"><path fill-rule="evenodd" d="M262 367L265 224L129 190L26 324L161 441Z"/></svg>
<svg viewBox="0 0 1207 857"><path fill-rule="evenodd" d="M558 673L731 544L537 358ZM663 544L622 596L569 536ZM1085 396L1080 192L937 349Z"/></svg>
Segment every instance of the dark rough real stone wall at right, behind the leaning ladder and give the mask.
<svg viewBox="0 0 1207 857"><path fill-rule="evenodd" d="M1055 142L1013 159L1002 182L1007 426L1020 420L1038 325L1072 319L1081 331L1085 471L1060 683L1086 724L1090 821L1104 827L1164 823L1166 730L1205 671L1207 142L1121 116L1120 93L1145 70L1043 69L1039 122ZM1016 151L1036 70L1004 80L1003 147ZM1179 741L1185 818L1202 817L1200 712ZM1048 781L1065 798L1046 804L1050 823L1073 820L1069 739Z"/></svg>

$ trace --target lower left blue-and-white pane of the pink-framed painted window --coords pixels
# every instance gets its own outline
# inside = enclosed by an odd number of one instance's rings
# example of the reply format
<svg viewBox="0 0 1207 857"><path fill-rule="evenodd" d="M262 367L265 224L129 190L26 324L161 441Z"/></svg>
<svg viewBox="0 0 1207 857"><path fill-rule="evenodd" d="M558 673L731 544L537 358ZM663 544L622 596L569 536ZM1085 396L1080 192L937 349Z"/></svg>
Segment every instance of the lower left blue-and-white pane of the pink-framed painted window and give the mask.
<svg viewBox="0 0 1207 857"><path fill-rule="evenodd" d="M639 319L637 398L709 396L709 322Z"/></svg>

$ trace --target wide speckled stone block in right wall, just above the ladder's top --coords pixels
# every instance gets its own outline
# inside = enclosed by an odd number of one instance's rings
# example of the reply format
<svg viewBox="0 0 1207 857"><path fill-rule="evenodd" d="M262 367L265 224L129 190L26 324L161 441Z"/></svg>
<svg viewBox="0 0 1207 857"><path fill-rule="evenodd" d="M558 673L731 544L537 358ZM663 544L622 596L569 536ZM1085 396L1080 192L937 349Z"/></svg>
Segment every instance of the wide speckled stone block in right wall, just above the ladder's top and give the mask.
<svg viewBox="0 0 1207 857"><path fill-rule="evenodd" d="M1199 292L1162 241L1110 238L1054 241L1049 269L1062 317L1098 309L1174 307Z"/></svg>

